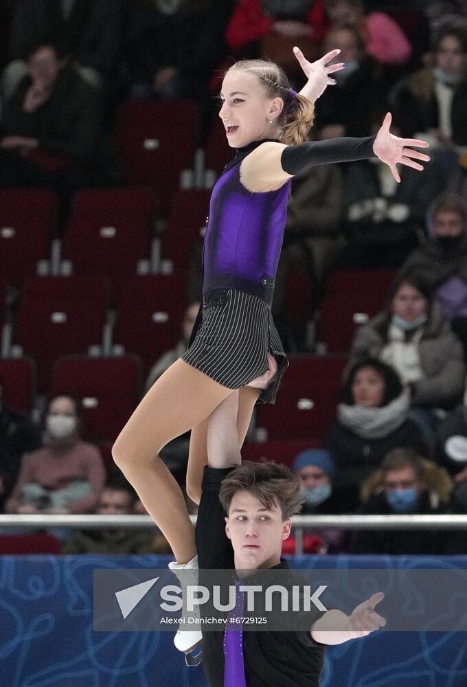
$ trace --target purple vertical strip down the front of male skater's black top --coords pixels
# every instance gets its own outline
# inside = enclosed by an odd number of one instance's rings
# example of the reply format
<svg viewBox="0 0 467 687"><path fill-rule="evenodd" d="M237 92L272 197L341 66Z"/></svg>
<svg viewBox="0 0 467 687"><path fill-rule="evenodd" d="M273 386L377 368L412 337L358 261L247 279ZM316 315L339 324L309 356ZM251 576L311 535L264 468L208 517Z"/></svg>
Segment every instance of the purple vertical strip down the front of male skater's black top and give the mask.
<svg viewBox="0 0 467 687"><path fill-rule="evenodd" d="M239 587L240 582L236 581L235 607L229 613L224 634L224 687L247 687L243 660L243 631L239 629L242 623L235 622L236 618L242 617L244 607L244 592L240 592Z"/></svg>

